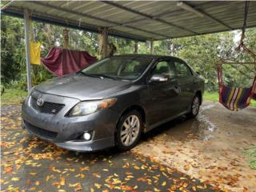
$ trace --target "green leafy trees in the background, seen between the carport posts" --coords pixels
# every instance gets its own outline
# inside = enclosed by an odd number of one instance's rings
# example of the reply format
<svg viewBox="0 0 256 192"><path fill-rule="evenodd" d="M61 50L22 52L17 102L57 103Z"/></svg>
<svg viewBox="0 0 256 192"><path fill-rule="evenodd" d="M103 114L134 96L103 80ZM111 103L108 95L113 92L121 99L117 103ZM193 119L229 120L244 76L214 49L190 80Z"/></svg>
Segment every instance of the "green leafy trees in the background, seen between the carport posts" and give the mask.
<svg viewBox="0 0 256 192"><path fill-rule="evenodd" d="M64 27L33 22L33 36L36 42L42 42L42 57L51 46L62 46ZM6 87L26 90L26 59L24 28L22 20L2 16L1 38L1 80ZM218 58L237 58L251 61L246 54L238 53L234 48L238 41L238 31L207 34L189 38L167 39L154 42L154 54L172 55L183 58L206 79L206 90L218 90L216 63ZM87 50L99 58L98 34L69 29L69 49ZM238 39L237 39L238 40ZM117 47L116 54L133 54L134 42L128 39L110 37L109 41ZM246 30L245 43L256 51L256 30ZM138 54L149 54L150 42L138 43ZM254 66L224 66L224 81L229 86L250 86L255 70ZM33 84L36 85L53 77L43 66L33 66Z"/></svg>

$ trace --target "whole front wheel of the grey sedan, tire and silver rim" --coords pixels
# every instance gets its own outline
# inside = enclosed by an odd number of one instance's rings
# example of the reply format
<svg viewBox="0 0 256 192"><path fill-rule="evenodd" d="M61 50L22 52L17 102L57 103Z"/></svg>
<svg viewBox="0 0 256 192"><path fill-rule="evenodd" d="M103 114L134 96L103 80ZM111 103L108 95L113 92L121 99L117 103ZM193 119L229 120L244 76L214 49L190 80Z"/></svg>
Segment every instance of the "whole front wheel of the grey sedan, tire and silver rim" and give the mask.
<svg viewBox="0 0 256 192"><path fill-rule="evenodd" d="M119 150L130 150L139 141L142 132L142 115L137 110L124 114L118 122L116 145Z"/></svg>

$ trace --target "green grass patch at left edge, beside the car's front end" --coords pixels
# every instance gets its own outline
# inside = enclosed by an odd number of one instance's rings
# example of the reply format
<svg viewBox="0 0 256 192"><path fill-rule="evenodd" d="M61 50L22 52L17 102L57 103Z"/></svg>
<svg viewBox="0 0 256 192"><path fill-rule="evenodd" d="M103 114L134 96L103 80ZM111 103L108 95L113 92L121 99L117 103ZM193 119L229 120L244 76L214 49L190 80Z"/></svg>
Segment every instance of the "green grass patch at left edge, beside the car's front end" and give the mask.
<svg viewBox="0 0 256 192"><path fill-rule="evenodd" d="M1 104L20 104L26 95L25 90L5 89L1 96Z"/></svg>

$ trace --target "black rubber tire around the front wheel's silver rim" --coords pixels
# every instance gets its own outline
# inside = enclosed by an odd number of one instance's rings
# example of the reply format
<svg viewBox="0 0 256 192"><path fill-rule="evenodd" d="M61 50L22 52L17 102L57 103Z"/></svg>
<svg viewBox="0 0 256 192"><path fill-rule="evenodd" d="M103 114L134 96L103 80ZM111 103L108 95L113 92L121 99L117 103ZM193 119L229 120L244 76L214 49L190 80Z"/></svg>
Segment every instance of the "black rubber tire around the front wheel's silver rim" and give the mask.
<svg viewBox="0 0 256 192"><path fill-rule="evenodd" d="M124 126L124 123L126 122L126 120L129 117L134 117L134 116L136 116L138 118L138 122L139 122L138 135L130 145L126 146L122 142L121 132L122 132L122 130L125 131L124 129L126 129L126 127ZM137 120L136 120L136 122L137 122ZM115 142L116 142L116 146L118 147L118 149L119 150L130 150L134 146L136 146L138 144L138 141L142 134L142 126L143 126L142 114L140 114L137 110L130 110L128 113L123 114L118 122L117 132L115 134ZM134 128L130 128L130 129L134 129ZM137 127L136 127L136 130L137 130ZM133 132L133 130L132 130L132 133L135 133L135 132ZM123 134L123 136L124 136L124 134ZM128 139L128 137L126 139Z"/></svg>

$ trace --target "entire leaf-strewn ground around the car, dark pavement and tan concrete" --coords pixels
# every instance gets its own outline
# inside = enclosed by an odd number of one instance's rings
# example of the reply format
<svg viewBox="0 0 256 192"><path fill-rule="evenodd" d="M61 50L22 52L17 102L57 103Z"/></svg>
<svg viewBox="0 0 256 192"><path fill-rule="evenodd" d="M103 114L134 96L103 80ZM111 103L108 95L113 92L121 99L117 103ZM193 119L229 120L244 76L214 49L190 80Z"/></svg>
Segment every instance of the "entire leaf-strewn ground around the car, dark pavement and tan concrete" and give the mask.
<svg viewBox="0 0 256 192"><path fill-rule="evenodd" d="M256 108L204 102L126 153L75 154L21 129L20 106L2 106L1 191L256 191L244 151L256 142Z"/></svg>

